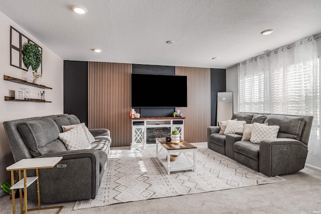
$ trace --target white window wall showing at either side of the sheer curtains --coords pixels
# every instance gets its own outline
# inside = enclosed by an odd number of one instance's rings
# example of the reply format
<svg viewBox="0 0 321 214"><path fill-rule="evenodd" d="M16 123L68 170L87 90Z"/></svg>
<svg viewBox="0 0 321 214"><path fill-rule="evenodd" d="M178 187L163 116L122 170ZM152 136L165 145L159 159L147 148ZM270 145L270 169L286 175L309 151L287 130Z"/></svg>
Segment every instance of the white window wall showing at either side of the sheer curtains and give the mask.
<svg viewBox="0 0 321 214"><path fill-rule="evenodd" d="M318 55L321 56L321 37L316 39ZM320 68L321 69L321 68ZM238 109L238 74L237 65L226 69L226 91L233 91L234 112ZM320 93L321 94L321 93ZM316 154L308 153L305 166L321 172L321 141L316 145Z"/></svg>

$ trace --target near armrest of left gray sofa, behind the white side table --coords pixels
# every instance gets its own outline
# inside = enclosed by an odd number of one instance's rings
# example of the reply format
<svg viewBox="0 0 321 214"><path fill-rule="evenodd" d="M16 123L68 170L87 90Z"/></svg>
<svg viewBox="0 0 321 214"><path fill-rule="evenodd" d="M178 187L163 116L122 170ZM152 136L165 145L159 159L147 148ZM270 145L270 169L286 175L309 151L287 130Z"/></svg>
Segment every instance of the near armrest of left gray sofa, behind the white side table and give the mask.
<svg viewBox="0 0 321 214"><path fill-rule="evenodd" d="M70 150L48 153L42 157L63 157L53 168L39 169L42 202L73 201L95 198L99 189L99 154L97 150ZM58 167L59 166L59 167ZM35 170L28 170L28 176ZM28 189L28 199L37 201L36 186ZM69 192L66 194L66 192Z"/></svg>

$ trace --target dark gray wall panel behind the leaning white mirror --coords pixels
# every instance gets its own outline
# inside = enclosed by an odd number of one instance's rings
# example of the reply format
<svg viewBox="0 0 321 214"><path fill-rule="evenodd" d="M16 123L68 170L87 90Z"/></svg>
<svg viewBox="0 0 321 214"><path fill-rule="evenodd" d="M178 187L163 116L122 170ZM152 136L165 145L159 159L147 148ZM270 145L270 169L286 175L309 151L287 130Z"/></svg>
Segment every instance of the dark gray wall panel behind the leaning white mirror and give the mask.
<svg viewBox="0 0 321 214"><path fill-rule="evenodd" d="M217 125L217 92L226 91L226 70L211 68L211 126Z"/></svg>

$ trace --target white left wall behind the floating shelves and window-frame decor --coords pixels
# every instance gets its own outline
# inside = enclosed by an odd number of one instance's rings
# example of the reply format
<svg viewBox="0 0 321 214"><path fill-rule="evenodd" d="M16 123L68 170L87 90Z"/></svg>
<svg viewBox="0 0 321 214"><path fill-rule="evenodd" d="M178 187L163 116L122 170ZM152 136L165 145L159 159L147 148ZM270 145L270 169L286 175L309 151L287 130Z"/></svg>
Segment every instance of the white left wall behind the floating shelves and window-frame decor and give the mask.
<svg viewBox="0 0 321 214"><path fill-rule="evenodd" d="M44 90L4 80L4 75L21 79L23 72L21 69L10 65L10 26L13 26L42 47L43 79L41 84L53 88L45 90L45 98L52 101L51 103L4 100L4 96L10 95L9 90L28 87L32 98L38 98L40 90ZM1 12L0 38L0 183L2 183L3 181L10 180L10 172L7 172L6 167L14 163L3 122L21 118L62 114L64 61Z"/></svg>

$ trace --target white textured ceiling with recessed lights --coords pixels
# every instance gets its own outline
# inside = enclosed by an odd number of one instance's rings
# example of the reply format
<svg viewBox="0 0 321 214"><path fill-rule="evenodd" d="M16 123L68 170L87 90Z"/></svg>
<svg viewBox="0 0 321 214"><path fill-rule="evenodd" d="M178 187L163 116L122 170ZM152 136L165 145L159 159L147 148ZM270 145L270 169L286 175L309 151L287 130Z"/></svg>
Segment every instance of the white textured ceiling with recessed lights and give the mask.
<svg viewBox="0 0 321 214"><path fill-rule="evenodd" d="M320 0L0 0L0 12L77 61L228 68L321 33Z"/></svg>

